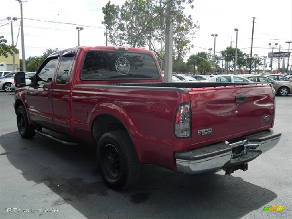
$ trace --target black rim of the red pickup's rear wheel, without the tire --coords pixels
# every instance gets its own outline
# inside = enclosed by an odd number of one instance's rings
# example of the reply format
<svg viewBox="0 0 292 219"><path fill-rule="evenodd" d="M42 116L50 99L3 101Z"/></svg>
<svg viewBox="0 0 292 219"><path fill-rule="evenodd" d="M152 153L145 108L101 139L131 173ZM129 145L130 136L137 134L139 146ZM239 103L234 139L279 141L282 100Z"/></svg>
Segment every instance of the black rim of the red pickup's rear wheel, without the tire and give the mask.
<svg viewBox="0 0 292 219"><path fill-rule="evenodd" d="M121 173L121 160L119 152L112 144L106 144L102 153L102 162L107 175L116 179Z"/></svg>

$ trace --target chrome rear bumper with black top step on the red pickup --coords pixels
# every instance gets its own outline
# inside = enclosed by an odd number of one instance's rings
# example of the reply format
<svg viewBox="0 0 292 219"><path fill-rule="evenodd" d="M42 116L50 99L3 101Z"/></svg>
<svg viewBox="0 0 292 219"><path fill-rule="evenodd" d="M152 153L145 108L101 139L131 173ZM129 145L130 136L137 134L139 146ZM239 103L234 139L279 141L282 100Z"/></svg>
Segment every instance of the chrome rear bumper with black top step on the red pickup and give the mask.
<svg viewBox="0 0 292 219"><path fill-rule="evenodd" d="M175 161L179 172L200 174L247 163L272 149L281 138L281 133L272 130L244 136L230 142L176 152Z"/></svg>

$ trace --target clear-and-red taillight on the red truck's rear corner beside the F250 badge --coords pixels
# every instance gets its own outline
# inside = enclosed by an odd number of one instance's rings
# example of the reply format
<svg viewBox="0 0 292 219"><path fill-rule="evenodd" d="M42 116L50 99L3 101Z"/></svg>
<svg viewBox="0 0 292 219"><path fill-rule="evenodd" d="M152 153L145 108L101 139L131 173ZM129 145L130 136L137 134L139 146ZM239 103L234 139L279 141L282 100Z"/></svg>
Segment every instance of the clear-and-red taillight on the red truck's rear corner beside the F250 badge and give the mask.
<svg viewBox="0 0 292 219"><path fill-rule="evenodd" d="M191 136L191 105L189 102L180 104L175 111L174 135L177 138Z"/></svg>

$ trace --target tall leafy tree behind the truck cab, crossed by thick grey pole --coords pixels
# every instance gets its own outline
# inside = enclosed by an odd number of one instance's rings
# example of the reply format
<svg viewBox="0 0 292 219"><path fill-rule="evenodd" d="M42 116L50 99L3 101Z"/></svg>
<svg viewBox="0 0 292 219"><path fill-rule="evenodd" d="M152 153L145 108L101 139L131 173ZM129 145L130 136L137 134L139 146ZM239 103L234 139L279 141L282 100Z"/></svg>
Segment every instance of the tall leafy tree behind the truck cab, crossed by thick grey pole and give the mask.
<svg viewBox="0 0 292 219"><path fill-rule="evenodd" d="M155 45L160 45L161 41L165 43L166 2L167 0L133 0L126 1L119 7L109 1L102 8L102 24L108 29L109 41L115 46L151 46L154 53L160 56ZM192 47L190 42L194 37L194 29L199 28L193 23L191 16L183 14L183 5L193 7L192 2L193 0L175 1L171 11L173 65L176 61L183 60L187 50Z"/></svg>

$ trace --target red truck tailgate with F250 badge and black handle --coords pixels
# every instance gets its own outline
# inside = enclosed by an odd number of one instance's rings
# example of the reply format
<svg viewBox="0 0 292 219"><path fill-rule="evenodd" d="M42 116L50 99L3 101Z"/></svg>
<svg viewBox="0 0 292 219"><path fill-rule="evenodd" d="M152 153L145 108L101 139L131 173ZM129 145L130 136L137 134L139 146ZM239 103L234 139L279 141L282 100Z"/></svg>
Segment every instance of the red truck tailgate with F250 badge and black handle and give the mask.
<svg viewBox="0 0 292 219"><path fill-rule="evenodd" d="M273 126L274 97L269 84L188 90L193 148L238 138Z"/></svg>

